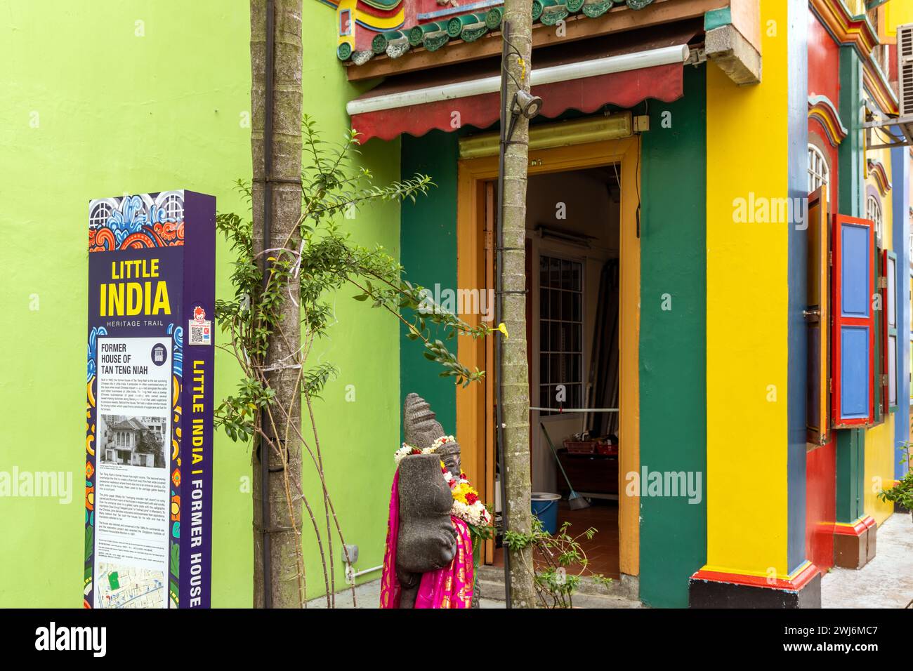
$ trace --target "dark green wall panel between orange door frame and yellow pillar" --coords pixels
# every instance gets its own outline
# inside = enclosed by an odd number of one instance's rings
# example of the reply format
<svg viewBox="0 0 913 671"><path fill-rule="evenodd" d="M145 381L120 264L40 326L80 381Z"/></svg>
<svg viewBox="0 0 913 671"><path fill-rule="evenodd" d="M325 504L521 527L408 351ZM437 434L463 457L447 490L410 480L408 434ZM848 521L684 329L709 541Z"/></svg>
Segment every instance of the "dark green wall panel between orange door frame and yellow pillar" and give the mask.
<svg viewBox="0 0 913 671"><path fill-rule="evenodd" d="M640 598L657 607L686 607L688 578L707 559L705 79L685 68L685 96L651 101L642 136L641 467L699 472L704 486L699 504L640 499Z"/></svg>

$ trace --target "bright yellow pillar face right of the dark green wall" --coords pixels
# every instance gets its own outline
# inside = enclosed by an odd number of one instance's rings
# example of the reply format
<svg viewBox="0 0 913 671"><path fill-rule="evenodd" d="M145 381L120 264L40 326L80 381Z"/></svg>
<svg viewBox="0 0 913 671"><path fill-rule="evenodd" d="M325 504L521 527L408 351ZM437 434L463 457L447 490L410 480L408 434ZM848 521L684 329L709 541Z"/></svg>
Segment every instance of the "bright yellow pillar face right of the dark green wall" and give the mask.
<svg viewBox="0 0 913 671"><path fill-rule="evenodd" d="M787 566L788 225L736 223L733 200L788 194L786 3L761 0L764 77L707 78L707 566ZM766 29L778 26L776 35ZM775 400L769 396L775 393Z"/></svg>

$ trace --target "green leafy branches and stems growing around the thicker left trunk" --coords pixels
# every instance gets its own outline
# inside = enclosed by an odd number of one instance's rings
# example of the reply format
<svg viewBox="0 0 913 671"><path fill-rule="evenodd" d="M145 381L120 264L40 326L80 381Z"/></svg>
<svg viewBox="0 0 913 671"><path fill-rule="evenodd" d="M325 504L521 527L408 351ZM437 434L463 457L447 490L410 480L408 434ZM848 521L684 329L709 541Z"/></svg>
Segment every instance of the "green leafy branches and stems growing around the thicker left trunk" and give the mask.
<svg viewBox="0 0 913 671"><path fill-rule="evenodd" d="M301 215L281 245L257 250L254 225L249 218L236 213L216 216L217 230L226 237L235 255L231 273L234 295L215 301L215 319L228 335L228 344L219 347L235 357L242 380L236 392L226 396L216 410L215 426L233 441L247 442L257 436L261 446L278 456L278 463L283 465L289 517L294 519L293 501L300 498L317 537L327 603L331 605L335 599L331 517L343 547L345 540L324 478L312 401L320 398L337 369L327 362L308 365L314 342L324 337L335 321L329 297L343 288L357 289L356 300L370 301L373 308L394 315L404 324L407 338L422 342L425 358L442 366L441 375L454 377L457 384L464 386L481 380L484 372L468 370L448 350L445 341L456 335L479 338L490 330L470 326L434 305L424 288L403 278L404 268L382 246L358 246L348 232L341 230L340 220L353 218L362 207L407 199L415 202L418 195L427 194L434 186L431 178L415 174L384 186L374 184L373 174L356 164L360 153L357 135L350 131L341 142L325 142L315 121L308 116L302 122L302 140L306 161L301 172ZM238 180L236 190L248 203L253 200L250 183ZM284 323L289 300L299 308L299 324ZM270 347L277 342L289 343L288 330L292 328L300 330L299 339L295 339L300 346L286 347L283 351L290 353L269 364ZM442 337L438 338L438 334ZM291 395L302 398L307 406L311 434L308 438L295 418L295 404L283 407L276 400L272 380L279 369L298 371ZM286 427L286 435L277 435L278 425ZM320 477L325 537L300 481L289 476L289 444L295 441L307 451ZM300 534L297 527L295 532ZM298 561L303 603L304 565L300 551Z"/></svg>

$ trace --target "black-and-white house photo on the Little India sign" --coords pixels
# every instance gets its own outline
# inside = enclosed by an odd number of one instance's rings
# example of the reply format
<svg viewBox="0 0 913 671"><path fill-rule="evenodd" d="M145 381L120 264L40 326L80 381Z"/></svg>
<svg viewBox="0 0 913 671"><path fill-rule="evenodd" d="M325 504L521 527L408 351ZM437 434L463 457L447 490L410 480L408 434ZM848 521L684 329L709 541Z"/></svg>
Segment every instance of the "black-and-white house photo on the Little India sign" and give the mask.
<svg viewBox="0 0 913 671"><path fill-rule="evenodd" d="M100 414L99 417L102 463L165 467L166 417L127 414Z"/></svg>

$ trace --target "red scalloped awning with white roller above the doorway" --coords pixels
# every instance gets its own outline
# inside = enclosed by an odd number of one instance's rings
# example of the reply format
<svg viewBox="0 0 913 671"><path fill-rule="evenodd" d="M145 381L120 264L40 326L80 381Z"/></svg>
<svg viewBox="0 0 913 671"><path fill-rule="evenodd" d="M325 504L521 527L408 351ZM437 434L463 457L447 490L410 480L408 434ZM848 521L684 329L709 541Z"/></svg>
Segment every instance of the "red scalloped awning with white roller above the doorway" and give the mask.
<svg viewBox="0 0 913 671"><path fill-rule="evenodd" d="M532 92L542 99L541 114L584 113L612 104L630 108L648 98L681 98L687 42L695 32L679 31L650 42L614 37L613 44L579 42L537 50ZM621 44L620 44L621 43ZM459 68L455 70L454 68ZM498 62L450 66L414 76L390 78L349 103L352 129L360 140L392 140L401 133L420 136L461 126L488 128L498 121ZM541 83L537 83L541 82Z"/></svg>

